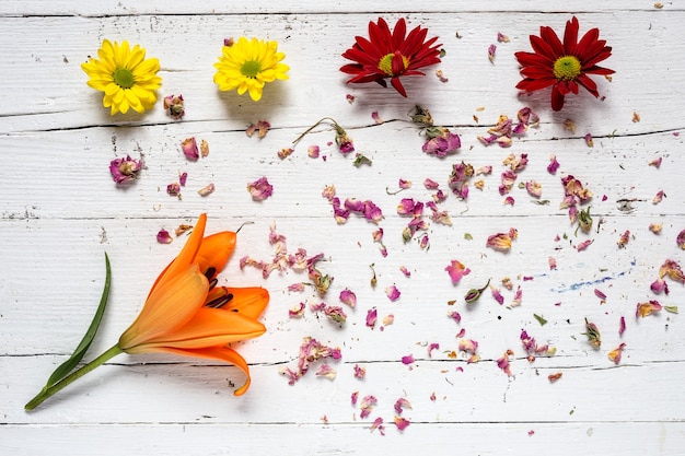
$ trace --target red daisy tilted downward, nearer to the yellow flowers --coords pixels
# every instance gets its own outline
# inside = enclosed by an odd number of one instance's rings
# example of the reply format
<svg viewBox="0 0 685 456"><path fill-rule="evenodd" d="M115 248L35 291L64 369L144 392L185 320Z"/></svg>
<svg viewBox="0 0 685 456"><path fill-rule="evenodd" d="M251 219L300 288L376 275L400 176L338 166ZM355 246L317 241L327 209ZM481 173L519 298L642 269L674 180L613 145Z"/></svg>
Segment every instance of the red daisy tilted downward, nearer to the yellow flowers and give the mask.
<svg viewBox="0 0 685 456"><path fill-rule="evenodd" d="M353 74L348 83L375 81L384 87L385 79L402 96L407 96L405 87L399 82L402 75L423 75L419 68L440 62L440 44L433 45L438 37L426 42L428 28L417 26L409 35L404 17L397 21L393 32L387 23L379 17L379 22L369 22L369 37L357 36L357 43L347 49L342 57L353 60L340 67L340 71Z"/></svg>

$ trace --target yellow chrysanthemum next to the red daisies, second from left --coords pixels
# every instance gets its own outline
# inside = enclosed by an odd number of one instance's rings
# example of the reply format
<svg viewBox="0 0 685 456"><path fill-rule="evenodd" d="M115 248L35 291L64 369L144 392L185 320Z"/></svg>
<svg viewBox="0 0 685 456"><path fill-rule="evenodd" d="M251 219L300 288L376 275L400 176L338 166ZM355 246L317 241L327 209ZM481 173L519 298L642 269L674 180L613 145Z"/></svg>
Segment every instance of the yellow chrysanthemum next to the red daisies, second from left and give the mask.
<svg viewBox="0 0 685 456"><path fill-rule="evenodd" d="M247 40L244 36L232 46L223 46L222 56L214 63L218 70L214 82L221 91L237 89L239 95L245 92L255 102L262 98L262 91L267 82L288 79L288 67L280 63L286 58L278 52L278 43L257 38Z"/></svg>

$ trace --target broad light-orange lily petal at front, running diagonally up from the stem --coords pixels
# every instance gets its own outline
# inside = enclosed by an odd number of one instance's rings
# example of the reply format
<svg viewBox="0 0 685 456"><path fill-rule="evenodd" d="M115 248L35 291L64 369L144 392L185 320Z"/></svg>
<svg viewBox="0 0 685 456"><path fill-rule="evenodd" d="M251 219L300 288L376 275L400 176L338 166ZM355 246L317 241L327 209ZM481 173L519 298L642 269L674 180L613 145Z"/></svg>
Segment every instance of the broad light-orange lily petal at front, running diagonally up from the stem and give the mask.
<svg viewBox="0 0 685 456"><path fill-rule="evenodd" d="M137 346L178 330L205 304L208 289L207 278L197 265L186 266L173 280L160 282L138 318L119 338L119 347L128 353L139 353Z"/></svg>

